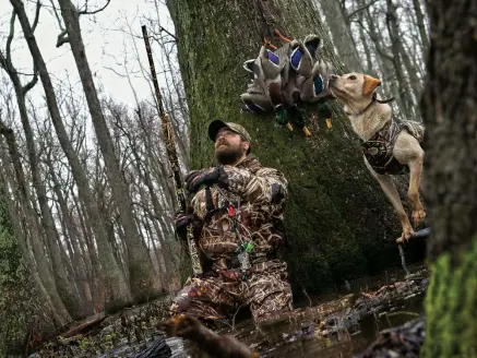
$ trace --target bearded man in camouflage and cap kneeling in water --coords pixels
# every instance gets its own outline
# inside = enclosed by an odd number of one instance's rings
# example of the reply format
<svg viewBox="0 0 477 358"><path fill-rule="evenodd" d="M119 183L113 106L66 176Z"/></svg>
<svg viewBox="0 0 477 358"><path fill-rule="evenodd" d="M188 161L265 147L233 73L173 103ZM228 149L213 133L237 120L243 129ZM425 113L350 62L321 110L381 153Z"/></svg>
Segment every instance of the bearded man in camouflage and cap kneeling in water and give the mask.
<svg viewBox="0 0 477 358"><path fill-rule="evenodd" d="M175 298L175 314L204 320L231 319L249 306L257 321L291 309L287 265L276 256L284 244L283 211L287 180L250 154L250 135L237 123L208 126L218 166L186 178L192 213L178 213L178 236L192 223L198 248L212 268L189 277ZM205 188L201 188L205 186Z"/></svg>

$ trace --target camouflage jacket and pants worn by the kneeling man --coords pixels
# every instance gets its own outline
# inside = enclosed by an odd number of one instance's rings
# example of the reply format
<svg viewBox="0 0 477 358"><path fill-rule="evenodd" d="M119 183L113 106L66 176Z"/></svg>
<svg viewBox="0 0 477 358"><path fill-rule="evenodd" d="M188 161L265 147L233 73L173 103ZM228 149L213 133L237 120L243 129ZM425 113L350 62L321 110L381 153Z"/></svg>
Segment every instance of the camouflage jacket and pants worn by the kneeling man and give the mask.
<svg viewBox="0 0 477 358"><path fill-rule="evenodd" d="M192 200L202 222L198 247L212 261L205 278L190 277L176 297L172 313L222 319L250 305L255 319L291 308L287 266L274 253L284 243L283 211L287 180L249 155L236 166L224 166L220 183L211 188L215 210L207 212L205 190ZM245 243L251 267L242 271L237 252Z"/></svg>

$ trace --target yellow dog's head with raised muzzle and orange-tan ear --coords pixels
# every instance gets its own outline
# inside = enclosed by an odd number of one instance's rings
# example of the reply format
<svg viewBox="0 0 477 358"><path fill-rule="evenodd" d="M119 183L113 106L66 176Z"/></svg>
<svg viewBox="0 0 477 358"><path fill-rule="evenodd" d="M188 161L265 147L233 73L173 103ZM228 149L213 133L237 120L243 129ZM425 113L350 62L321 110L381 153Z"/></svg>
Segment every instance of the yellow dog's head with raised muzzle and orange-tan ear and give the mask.
<svg viewBox="0 0 477 358"><path fill-rule="evenodd" d="M379 85L381 85L380 80L356 72L344 75L332 74L327 81L331 93L350 107L368 105Z"/></svg>

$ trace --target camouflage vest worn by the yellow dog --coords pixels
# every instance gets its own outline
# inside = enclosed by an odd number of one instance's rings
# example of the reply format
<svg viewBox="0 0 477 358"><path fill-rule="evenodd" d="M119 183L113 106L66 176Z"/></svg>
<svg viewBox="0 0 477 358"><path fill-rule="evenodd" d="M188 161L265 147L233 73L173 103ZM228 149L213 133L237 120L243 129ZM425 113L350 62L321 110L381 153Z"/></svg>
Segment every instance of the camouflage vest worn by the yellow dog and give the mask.
<svg viewBox="0 0 477 358"><path fill-rule="evenodd" d="M403 130L406 130L419 142L422 141L424 126L416 121L398 121L392 118L369 141L361 143L362 154L375 172L381 175L400 175L408 170L407 165L397 162L393 155L397 135Z"/></svg>

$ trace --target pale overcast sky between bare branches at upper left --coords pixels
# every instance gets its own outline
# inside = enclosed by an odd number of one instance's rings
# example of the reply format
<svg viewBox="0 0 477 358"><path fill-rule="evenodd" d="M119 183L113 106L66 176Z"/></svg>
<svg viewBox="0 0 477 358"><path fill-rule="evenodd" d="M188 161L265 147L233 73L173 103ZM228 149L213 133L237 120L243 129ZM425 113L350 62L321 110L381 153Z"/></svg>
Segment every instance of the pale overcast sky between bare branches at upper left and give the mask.
<svg viewBox="0 0 477 358"><path fill-rule="evenodd" d="M73 0L73 2L81 8L84 7L85 0ZM70 79L71 83L77 84L77 71L69 44L64 44L60 48L56 47L60 29L51 1L41 0L41 3L39 24L35 32L35 37L47 62L48 71L56 84L65 83L64 80L67 77ZM103 7L106 0L90 0L87 3L90 10L95 10ZM24 4L29 14L31 22L33 22L36 0L24 0ZM56 0L55 5L58 7ZM4 51L9 34L11 10L10 0L0 0L0 49L2 51ZM60 13L59 9L58 13ZM126 74L126 71L129 71L140 99L151 95L150 83L144 80L140 65L135 60L134 39L128 34L132 31L136 35L135 45L140 55L140 61L148 75L148 62L141 33L141 25L145 24L144 14L150 17L156 17L154 0L111 0L105 11L95 15L82 15L80 17L86 56L92 72L95 74L96 85L100 84L104 91L117 100L131 105L134 105L133 93L128 80L119 74ZM174 33L172 22L164 4L159 4L159 16L162 25ZM158 70L158 46L153 46L153 52L156 59L156 70ZM32 73L32 57L17 21L15 22L12 58L19 71ZM77 93L81 94L81 87L77 88ZM43 88L38 84L32 91L32 96L37 102L41 98L39 96L43 95Z"/></svg>

